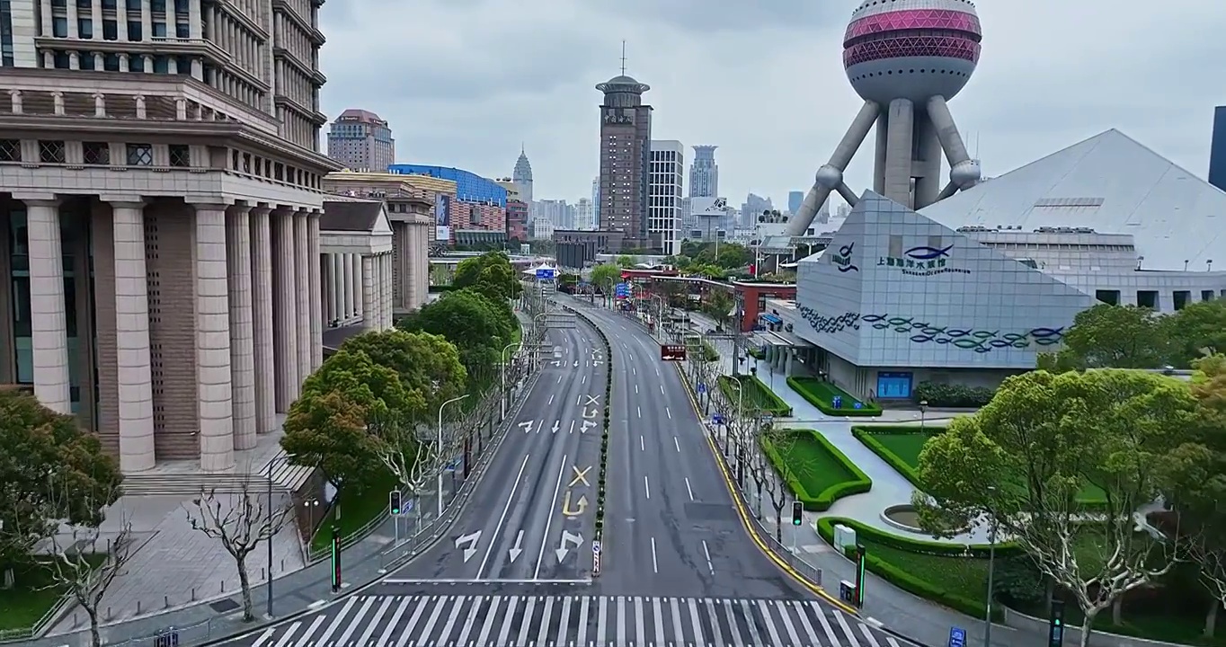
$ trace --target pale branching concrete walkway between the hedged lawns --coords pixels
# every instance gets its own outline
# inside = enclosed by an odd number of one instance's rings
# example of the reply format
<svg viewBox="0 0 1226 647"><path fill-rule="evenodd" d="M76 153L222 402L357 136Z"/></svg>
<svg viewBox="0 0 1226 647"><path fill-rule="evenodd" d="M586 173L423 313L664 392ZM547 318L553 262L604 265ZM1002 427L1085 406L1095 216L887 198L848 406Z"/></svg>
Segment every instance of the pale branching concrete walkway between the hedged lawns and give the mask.
<svg viewBox="0 0 1226 647"><path fill-rule="evenodd" d="M710 317L690 312L691 327L696 332L705 332L715 327L715 321ZM721 375L732 374L733 349L731 339L712 339L720 353L717 361ZM792 407L792 417L779 419L779 423L791 429L814 429L820 431L831 445L839 448L851 462L856 463L869 479L873 480L873 489L863 494L846 496L835 501L830 510L825 512L805 512L805 521L812 526L819 517L847 517L866 526L879 528L891 534L924 539L929 542L942 542L950 544L987 543L987 531L976 528L970 533L959 534L948 539L938 539L923 533L912 533L886 523L881 518L881 512L893 505L911 502L911 494L915 486L911 482L899 474L881 457L873 453L863 442L852 435L852 426L868 426L873 424L915 424L918 426L921 413L907 409L886 409L880 417L851 418L846 415L826 415L817 407L804 399L792 387L787 385L787 377L782 373L772 375L771 366L766 361L750 358L758 368L758 379L780 397L788 407ZM748 371L748 365L743 369ZM716 391L718 393L718 391ZM951 418L948 413L929 413L924 417L929 424L944 424ZM767 506L769 507L769 506Z"/></svg>

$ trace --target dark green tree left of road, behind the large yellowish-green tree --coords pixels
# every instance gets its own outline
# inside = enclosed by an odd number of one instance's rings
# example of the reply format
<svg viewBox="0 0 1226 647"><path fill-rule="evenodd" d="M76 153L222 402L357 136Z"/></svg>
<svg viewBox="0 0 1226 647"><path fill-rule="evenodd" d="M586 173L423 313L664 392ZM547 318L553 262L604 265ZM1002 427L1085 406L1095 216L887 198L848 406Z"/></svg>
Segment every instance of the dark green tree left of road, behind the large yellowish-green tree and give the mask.
<svg viewBox="0 0 1226 647"><path fill-rule="evenodd" d="M488 376L488 368L501 361L499 355L511 342L514 325L514 314L473 289L452 292L427 304L405 322L408 330L441 335L455 344L470 379Z"/></svg>

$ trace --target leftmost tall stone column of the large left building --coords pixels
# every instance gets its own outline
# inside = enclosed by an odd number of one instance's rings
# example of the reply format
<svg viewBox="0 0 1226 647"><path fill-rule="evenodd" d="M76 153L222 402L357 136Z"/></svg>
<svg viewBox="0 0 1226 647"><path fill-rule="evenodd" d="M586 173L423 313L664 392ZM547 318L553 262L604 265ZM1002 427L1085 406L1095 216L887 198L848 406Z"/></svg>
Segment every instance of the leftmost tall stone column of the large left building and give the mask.
<svg viewBox="0 0 1226 647"><path fill-rule="evenodd" d="M64 303L64 243L60 201L50 194L22 196L29 238L29 314L34 397L44 407L72 413L69 392L67 312Z"/></svg>

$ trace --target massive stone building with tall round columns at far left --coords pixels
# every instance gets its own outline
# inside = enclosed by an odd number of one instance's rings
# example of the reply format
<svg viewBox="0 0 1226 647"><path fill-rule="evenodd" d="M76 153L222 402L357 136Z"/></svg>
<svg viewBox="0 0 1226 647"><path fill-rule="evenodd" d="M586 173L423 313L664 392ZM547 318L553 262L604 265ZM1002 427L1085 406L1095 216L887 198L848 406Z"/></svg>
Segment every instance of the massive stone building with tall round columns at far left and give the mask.
<svg viewBox="0 0 1226 647"><path fill-rule="evenodd" d="M233 468L322 360L320 4L6 5L0 384L124 473Z"/></svg>

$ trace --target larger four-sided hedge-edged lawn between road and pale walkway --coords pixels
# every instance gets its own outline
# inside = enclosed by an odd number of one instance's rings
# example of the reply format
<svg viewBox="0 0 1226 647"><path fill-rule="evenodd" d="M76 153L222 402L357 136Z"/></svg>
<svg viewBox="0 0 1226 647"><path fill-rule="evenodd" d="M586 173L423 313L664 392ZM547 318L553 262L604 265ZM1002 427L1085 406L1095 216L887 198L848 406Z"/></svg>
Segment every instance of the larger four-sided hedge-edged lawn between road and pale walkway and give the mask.
<svg viewBox="0 0 1226 647"><path fill-rule="evenodd" d="M761 439L763 453L805 510L830 510L843 496L873 488L856 463L812 429L783 429Z"/></svg>

